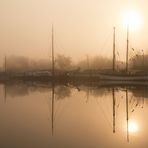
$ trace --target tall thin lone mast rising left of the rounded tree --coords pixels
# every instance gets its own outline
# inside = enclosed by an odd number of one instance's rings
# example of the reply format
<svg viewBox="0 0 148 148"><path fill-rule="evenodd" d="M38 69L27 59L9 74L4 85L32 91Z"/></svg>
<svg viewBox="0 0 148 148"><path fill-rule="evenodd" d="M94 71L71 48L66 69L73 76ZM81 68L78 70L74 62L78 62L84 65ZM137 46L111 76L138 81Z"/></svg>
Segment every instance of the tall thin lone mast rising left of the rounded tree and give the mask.
<svg viewBox="0 0 148 148"><path fill-rule="evenodd" d="M54 27L52 24L52 77L54 78L55 76L55 65L54 65Z"/></svg>

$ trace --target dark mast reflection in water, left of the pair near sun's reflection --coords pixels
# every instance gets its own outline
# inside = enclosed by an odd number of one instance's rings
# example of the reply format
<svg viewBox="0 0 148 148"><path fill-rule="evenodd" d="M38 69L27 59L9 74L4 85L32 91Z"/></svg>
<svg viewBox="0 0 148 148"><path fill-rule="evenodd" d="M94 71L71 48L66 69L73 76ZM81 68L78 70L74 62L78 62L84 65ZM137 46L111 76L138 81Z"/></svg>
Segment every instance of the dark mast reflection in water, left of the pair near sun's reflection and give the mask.
<svg viewBox="0 0 148 148"><path fill-rule="evenodd" d="M112 88L112 96L113 96L113 133L116 132L116 114L115 114L115 105L116 105L116 98L115 98L115 89Z"/></svg>

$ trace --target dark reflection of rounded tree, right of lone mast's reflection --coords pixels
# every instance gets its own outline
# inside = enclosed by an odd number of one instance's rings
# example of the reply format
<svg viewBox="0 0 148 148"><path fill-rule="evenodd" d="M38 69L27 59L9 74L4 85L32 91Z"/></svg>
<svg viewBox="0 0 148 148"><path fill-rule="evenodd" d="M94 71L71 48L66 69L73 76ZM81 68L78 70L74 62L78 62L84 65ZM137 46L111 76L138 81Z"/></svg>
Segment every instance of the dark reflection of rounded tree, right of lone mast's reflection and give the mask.
<svg viewBox="0 0 148 148"><path fill-rule="evenodd" d="M57 99L65 99L71 96L71 88L66 86L57 86L55 89Z"/></svg>

